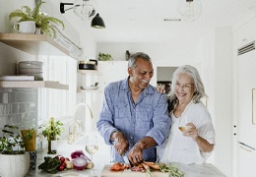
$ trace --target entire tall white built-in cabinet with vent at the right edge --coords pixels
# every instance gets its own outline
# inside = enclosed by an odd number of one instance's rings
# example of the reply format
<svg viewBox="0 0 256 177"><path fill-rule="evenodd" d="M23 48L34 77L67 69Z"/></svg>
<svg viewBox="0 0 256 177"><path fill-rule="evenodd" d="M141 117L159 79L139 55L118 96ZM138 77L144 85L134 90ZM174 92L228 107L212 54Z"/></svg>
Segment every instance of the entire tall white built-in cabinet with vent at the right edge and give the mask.
<svg viewBox="0 0 256 177"><path fill-rule="evenodd" d="M256 18L233 32L234 148L233 176L255 176L256 170ZM238 55L238 50L239 54ZM236 115L237 113L237 115ZM236 128L237 127L237 128ZM237 129L237 134L236 134ZM236 174L237 172L237 174Z"/></svg>

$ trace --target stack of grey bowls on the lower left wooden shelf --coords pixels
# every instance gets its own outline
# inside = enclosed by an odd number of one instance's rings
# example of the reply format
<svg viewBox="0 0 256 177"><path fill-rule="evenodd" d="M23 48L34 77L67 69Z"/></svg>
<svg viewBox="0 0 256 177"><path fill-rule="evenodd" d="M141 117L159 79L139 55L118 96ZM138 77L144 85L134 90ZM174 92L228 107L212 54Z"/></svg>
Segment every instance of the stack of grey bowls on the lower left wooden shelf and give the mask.
<svg viewBox="0 0 256 177"><path fill-rule="evenodd" d="M22 61L18 63L18 75L42 78L42 62Z"/></svg>

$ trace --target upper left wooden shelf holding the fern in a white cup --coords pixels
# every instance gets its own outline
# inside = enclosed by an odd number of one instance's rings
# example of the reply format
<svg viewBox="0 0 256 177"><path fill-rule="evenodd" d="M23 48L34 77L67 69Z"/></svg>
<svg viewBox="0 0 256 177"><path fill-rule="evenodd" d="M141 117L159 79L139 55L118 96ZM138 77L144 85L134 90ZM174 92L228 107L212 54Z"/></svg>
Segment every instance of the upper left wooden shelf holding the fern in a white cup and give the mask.
<svg viewBox="0 0 256 177"><path fill-rule="evenodd" d="M70 52L45 34L1 33L0 41L32 55L70 55Z"/></svg>

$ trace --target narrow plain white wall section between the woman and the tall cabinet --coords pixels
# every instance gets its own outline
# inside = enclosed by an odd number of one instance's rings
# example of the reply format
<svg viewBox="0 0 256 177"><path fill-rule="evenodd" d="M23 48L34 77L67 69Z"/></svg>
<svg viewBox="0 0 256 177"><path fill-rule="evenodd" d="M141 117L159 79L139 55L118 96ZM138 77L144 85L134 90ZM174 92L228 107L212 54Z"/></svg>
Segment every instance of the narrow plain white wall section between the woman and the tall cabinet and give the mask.
<svg viewBox="0 0 256 177"><path fill-rule="evenodd" d="M231 29L216 29L215 41L215 125L216 165L227 176L232 163L232 55Z"/></svg>

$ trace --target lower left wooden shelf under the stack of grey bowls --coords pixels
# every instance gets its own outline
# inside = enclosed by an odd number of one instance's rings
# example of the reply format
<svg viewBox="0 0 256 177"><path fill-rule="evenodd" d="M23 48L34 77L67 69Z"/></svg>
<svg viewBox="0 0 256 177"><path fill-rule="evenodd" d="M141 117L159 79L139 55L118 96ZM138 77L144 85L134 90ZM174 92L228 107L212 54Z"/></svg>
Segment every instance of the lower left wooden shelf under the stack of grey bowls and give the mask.
<svg viewBox="0 0 256 177"><path fill-rule="evenodd" d="M69 89L69 86L50 81L0 81L0 88Z"/></svg>

